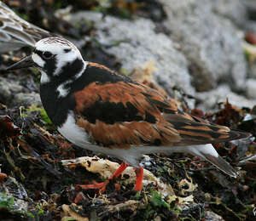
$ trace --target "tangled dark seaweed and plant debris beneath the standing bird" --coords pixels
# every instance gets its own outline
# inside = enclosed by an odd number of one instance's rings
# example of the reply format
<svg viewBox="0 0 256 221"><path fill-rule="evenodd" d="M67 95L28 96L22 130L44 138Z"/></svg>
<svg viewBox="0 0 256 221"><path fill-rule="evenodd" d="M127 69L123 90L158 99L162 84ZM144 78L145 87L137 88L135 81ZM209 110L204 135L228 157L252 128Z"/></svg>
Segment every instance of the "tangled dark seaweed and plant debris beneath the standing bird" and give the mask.
<svg viewBox="0 0 256 221"><path fill-rule="evenodd" d="M193 112L255 135L251 127L254 117L248 117L252 110L237 109L228 101L220 108L211 114ZM133 220L178 220L204 218L209 212L224 219L253 218L256 144L252 138L215 144L221 156L234 167L239 165L239 178L230 178L195 156L158 154L145 156L142 161L141 193L133 191L135 173L128 167L118 180L108 184L104 195L98 195L95 190L76 190L74 186L104 181L119 167L116 159L102 159L106 156L94 156L69 144L49 127L36 105L23 111L3 106L0 114L4 126L0 153L4 218L90 220L129 215ZM117 191L115 182L119 184Z"/></svg>

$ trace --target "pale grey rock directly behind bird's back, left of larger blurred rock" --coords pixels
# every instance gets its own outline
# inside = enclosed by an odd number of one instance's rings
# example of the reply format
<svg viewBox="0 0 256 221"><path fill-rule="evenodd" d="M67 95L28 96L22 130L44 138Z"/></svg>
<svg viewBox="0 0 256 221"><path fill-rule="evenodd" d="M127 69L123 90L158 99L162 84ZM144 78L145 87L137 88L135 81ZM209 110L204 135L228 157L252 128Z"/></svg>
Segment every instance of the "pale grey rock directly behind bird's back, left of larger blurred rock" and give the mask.
<svg viewBox="0 0 256 221"><path fill-rule="evenodd" d="M85 11L73 14L72 20L94 21L98 41L108 45L104 50L119 59L128 73L153 60L157 68L153 72L154 80L163 88L176 85L194 94L186 59L169 37L155 33L151 20L119 20L111 16L102 20L102 14Z"/></svg>

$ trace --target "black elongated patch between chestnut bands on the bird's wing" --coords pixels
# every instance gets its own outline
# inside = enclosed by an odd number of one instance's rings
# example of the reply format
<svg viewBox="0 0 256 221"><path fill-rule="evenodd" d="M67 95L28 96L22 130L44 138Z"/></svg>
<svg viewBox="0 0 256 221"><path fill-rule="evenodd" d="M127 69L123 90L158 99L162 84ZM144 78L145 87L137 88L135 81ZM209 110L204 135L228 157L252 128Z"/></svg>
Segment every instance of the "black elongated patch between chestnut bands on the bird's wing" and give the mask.
<svg viewBox="0 0 256 221"><path fill-rule="evenodd" d="M123 103L96 101L94 105L84 109L84 117L90 123L96 123L96 120L113 124L115 122L139 122L143 121L142 116L138 116L137 108L130 102Z"/></svg>

